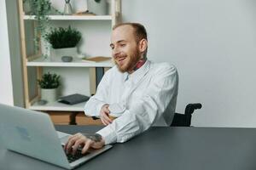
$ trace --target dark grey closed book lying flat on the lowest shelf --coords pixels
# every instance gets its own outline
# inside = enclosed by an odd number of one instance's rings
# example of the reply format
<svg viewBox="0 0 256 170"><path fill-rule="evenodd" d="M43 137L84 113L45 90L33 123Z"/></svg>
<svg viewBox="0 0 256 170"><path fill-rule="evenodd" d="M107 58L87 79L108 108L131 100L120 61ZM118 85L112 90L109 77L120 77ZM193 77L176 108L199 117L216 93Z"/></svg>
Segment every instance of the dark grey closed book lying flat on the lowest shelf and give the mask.
<svg viewBox="0 0 256 170"><path fill-rule="evenodd" d="M81 102L87 101L88 99L90 99L90 97L82 94L71 94L71 95L67 95L59 98L58 102L61 102L67 105L74 105L74 104L79 104Z"/></svg>

